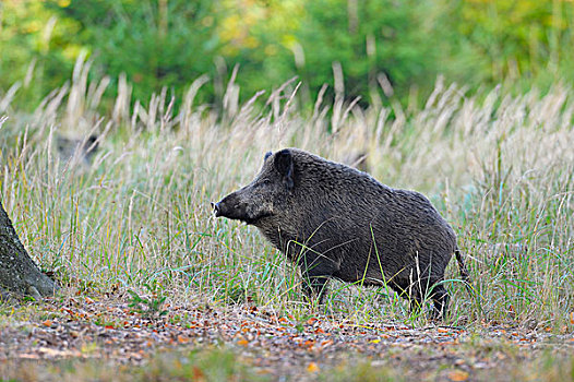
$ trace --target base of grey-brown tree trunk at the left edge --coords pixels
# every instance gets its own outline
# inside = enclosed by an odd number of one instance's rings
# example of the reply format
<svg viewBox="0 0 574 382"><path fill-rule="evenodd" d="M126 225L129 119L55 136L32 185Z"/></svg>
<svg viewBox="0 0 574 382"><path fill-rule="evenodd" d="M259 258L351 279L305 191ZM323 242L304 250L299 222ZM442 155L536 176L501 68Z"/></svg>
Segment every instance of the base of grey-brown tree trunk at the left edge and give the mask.
<svg viewBox="0 0 574 382"><path fill-rule="evenodd" d="M27 295L36 299L53 295L58 285L29 258L0 202L0 295Z"/></svg>

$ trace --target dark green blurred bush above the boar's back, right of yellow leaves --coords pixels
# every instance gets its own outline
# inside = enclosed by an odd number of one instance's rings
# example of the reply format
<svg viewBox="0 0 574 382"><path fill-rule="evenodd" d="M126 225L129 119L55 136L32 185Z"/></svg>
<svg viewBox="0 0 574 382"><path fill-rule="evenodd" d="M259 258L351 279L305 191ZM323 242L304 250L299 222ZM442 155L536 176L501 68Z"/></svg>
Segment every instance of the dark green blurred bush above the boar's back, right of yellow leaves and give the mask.
<svg viewBox="0 0 574 382"><path fill-rule="evenodd" d="M306 4L298 40L304 52L302 77L312 88L333 83L332 63L342 64L346 92L368 94L385 74L400 94L434 82L440 34L420 1L320 0ZM438 33L437 33L438 32ZM423 81L431 79L431 82Z"/></svg>

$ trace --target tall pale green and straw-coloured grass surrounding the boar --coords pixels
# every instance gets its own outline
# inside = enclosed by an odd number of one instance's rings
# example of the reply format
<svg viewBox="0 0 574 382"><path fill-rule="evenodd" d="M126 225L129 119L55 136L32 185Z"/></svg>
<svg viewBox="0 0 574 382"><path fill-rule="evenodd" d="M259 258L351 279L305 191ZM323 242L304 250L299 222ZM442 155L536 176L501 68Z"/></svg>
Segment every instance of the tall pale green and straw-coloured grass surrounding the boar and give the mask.
<svg viewBox="0 0 574 382"><path fill-rule="evenodd" d="M531 91L512 97L494 89L466 96L464 87L439 81L421 108L393 103L359 109L337 94L333 103L320 97L304 111L296 82L259 95L266 100L262 107L254 99L238 105L239 88L231 81L223 108L216 109L194 104L200 79L176 114L168 92L130 107L131 85L120 80L113 110L101 115L106 82L88 83L88 70L79 62L71 83L32 115L19 112L10 92L0 97L0 117L8 116L0 130L2 203L36 262L64 286L62 299L119 290L124 301L140 301L148 310L162 310L163 303L223 311L255 306L294 322L316 315L357 325L428 326L423 314L409 315L408 305L386 288L333 283L324 307L304 303L296 268L256 229L213 217L210 202L249 182L265 152L296 146L346 163L364 154L376 179L424 193L451 222L477 294L465 290L453 261L446 273L453 297L449 324L478 332L509 325L572 337L570 88L557 84L545 95ZM59 136L94 133L98 151L89 163L80 152L68 160L57 148ZM34 313L2 309L3 327L46 319L41 306ZM168 369L178 356L157 357L150 368ZM224 356L198 357L204 362ZM572 369L572 361L565 362ZM357 374L356 368L374 372L359 363L337 375ZM91 365L82 370L98 368ZM518 369L565 370L552 361L547 369L537 365ZM130 373L129 368L122 370ZM250 379L242 373L251 371L234 370L220 379ZM388 372L394 379L396 370Z"/></svg>

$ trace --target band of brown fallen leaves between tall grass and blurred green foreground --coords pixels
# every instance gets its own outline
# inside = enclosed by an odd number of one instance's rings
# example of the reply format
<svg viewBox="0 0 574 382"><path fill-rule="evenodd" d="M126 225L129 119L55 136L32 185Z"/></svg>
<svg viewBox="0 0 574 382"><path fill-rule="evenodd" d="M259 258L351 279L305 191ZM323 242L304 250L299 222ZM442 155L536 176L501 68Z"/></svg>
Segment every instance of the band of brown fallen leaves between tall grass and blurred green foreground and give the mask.
<svg viewBox="0 0 574 382"><path fill-rule="evenodd" d="M574 350L572 333L551 334L547 329L358 324L321 314L300 322L249 305L162 308L162 314L146 314L128 299L109 296L45 299L44 319L0 323L0 362L101 359L144 365L157 353L223 347L272 378L312 379L323 370L367 361L400 370L407 380L440 375L466 381L549 349L557 356Z"/></svg>

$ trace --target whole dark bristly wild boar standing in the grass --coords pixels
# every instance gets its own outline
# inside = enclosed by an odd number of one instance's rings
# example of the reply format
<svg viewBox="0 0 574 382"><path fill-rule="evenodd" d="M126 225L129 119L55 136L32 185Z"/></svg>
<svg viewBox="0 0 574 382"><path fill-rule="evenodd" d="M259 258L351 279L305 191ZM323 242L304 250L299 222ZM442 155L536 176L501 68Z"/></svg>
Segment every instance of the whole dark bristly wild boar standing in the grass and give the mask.
<svg viewBox="0 0 574 382"><path fill-rule="evenodd" d="M444 314L441 282L453 253L468 279L453 229L426 196L301 150L267 153L250 184L213 206L216 216L258 227L300 266L304 293L320 301L335 277L386 283L414 305L430 296Z"/></svg>

